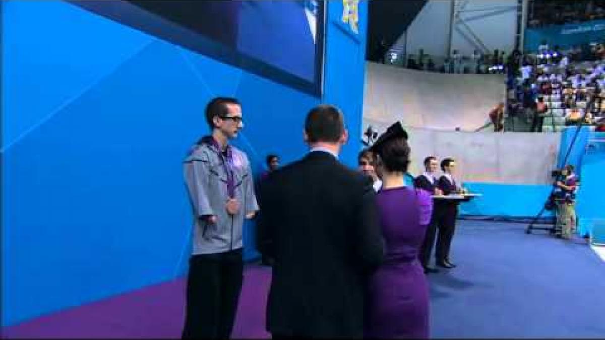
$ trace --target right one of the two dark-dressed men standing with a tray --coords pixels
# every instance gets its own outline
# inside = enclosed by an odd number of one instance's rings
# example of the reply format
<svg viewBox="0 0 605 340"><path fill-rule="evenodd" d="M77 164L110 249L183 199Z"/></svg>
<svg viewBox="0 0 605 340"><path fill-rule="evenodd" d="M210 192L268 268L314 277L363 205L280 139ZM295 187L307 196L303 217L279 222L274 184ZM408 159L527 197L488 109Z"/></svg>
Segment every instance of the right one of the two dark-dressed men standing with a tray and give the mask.
<svg viewBox="0 0 605 340"><path fill-rule="evenodd" d="M462 187L456 183L453 177L456 162L451 158L446 158L441 161L441 169L443 175L437 181L437 188L441 189L443 195L457 194L462 192ZM444 268L456 267L450 261L450 246L454 231L456 230L456 216L458 215L458 202L443 201L440 203L440 208L443 209L437 220L437 266Z"/></svg>

